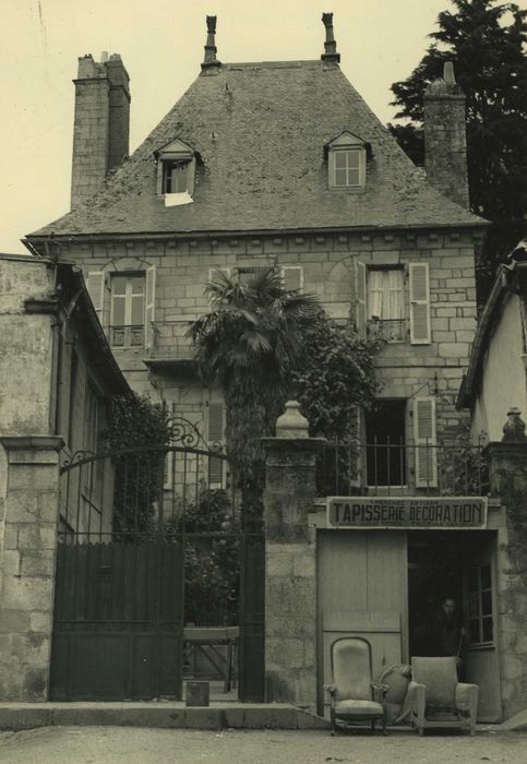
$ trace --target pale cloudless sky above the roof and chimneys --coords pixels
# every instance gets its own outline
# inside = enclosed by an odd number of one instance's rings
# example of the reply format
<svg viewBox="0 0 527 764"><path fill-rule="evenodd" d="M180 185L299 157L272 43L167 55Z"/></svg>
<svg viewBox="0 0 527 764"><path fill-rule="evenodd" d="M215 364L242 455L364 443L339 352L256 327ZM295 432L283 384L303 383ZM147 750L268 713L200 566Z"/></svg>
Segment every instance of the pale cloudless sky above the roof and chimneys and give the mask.
<svg viewBox="0 0 527 764"><path fill-rule="evenodd" d="M519 0L527 7L527 0ZM220 61L318 59L333 11L340 68L383 122L450 0L0 0L0 251L70 206L77 58L121 55L131 152L200 73L205 16Z"/></svg>

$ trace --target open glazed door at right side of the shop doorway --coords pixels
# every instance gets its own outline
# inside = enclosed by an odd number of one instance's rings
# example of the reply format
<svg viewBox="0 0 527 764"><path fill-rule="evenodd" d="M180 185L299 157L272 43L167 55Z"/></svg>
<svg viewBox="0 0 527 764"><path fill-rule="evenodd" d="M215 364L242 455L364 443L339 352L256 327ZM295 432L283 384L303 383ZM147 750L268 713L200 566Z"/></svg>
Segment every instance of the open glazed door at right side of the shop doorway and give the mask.
<svg viewBox="0 0 527 764"><path fill-rule="evenodd" d="M502 718L495 585L495 536L481 534L463 571L467 630L465 680L479 685L478 721Z"/></svg>

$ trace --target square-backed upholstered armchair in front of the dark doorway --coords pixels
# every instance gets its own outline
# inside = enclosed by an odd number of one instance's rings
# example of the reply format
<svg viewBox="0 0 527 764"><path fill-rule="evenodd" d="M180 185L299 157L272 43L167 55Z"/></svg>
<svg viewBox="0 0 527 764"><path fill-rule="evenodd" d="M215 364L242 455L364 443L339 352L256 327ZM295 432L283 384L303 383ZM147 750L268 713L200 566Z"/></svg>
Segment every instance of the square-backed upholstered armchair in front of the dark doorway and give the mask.
<svg viewBox="0 0 527 764"><path fill-rule="evenodd" d="M415 657L411 671L406 704L419 735L426 727L457 727L474 735L479 688L458 682L456 658Z"/></svg>

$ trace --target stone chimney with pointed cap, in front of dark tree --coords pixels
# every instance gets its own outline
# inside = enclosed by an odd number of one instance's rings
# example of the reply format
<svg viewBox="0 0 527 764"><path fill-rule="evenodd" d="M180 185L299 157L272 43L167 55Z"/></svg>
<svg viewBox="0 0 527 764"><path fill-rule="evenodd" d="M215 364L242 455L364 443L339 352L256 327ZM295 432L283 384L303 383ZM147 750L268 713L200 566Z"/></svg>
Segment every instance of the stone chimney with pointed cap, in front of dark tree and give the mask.
<svg viewBox="0 0 527 764"><path fill-rule="evenodd" d="M465 94L452 61L424 93L424 168L438 191L468 208Z"/></svg>

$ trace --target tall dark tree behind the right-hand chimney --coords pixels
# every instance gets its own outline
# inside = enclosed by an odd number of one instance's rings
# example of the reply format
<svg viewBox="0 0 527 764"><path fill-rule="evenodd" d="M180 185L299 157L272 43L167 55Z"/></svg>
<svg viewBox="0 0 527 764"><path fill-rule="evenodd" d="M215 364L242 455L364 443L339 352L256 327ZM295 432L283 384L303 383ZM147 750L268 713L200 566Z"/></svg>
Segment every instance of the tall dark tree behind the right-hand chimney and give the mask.
<svg viewBox="0 0 527 764"><path fill-rule="evenodd" d="M496 0L452 0L432 44L412 73L395 82L390 126L406 153L422 163L423 94L454 62L467 98L467 160L471 208L493 223L480 270L490 273L525 232L527 211L527 10Z"/></svg>

